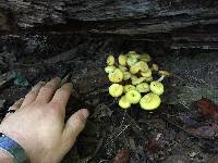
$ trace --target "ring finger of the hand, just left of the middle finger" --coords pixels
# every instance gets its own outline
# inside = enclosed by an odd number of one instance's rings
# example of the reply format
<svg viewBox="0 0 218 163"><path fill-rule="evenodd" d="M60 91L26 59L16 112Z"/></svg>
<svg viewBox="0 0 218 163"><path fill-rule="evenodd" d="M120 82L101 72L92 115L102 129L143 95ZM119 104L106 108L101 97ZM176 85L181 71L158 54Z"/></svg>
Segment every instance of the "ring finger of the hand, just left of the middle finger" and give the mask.
<svg viewBox="0 0 218 163"><path fill-rule="evenodd" d="M40 88L41 88L43 86L45 86L45 85L46 85L45 82L39 82L36 86L34 86L34 87L32 88L32 90L25 96L25 99L24 99L24 101L23 101L23 103L22 103L21 106L25 106L25 105L28 105L28 104L31 104L32 102L34 102L34 101L36 100L36 97L37 97L37 95L38 95Z"/></svg>

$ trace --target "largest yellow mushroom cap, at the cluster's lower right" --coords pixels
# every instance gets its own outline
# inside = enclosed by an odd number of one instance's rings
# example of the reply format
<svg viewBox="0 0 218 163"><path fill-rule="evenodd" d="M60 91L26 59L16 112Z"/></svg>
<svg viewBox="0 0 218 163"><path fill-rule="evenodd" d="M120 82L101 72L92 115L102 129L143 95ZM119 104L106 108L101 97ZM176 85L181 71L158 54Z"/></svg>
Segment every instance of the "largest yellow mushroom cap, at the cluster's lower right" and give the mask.
<svg viewBox="0 0 218 163"><path fill-rule="evenodd" d="M140 104L143 110L152 111L157 109L161 103L161 99L158 95L149 92L145 95L141 100Z"/></svg>

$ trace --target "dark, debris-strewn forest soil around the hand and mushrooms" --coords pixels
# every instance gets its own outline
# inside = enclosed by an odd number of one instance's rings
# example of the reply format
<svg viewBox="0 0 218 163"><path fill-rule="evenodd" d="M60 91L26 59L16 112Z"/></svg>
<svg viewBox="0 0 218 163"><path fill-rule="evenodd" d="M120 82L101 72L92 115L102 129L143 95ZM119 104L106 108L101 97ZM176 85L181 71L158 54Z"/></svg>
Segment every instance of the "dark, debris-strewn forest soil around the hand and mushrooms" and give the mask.
<svg viewBox="0 0 218 163"><path fill-rule="evenodd" d="M150 53L155 63L173 74L165 83L162 105L153 113L137 105L124 112L108 95L106 58L109 53L118 55L129 50ZM216 140L196 137L180 125L182 117L189 120L184 121L185 125L193 125L191 118L196 118L194 125L204 121L196 116L197 109L193 105L201 97L207 96L217 102L218 58L211 51L199 57L204 51L171 51L161 45L129 38L22 35L2 36L0 52L0 75L15 73L0 87L1 118L5 109L39 80L71 75L74 91L66 106L66 118L81 108L87 108L92 114L63 163L216 163ZM205 67L208 67L207 76L201 75ZM193 93L184 89L187 87ZM207 89L208 93L197 97L198 88ZM193 110L196 112L191 112Z"/></svg>

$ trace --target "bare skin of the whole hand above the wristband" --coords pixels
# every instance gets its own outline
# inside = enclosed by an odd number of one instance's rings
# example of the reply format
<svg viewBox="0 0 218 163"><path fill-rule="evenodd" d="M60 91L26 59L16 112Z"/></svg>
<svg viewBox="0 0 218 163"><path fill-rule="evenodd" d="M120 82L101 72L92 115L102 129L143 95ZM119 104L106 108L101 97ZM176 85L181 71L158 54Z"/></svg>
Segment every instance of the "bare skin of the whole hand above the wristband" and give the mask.
<svg viewBox="0 0 218 163"><path fill-rule="evenodd" d="M64 123L72 84L60 86L60 78L39 83L10 109L0 133L17 141L32 163L58 163L84 129L88 111L78 110ZM0 152L0 160L5 158ZM9 161L10 162L10 161Z"/></svg>

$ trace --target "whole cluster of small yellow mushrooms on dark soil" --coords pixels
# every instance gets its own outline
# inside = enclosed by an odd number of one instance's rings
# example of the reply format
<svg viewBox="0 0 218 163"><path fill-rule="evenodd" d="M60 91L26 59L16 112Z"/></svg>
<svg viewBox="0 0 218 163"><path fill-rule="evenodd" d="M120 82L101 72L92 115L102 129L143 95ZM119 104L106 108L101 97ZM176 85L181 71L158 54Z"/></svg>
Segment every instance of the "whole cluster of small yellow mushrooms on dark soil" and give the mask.
<svg viewBox="0 0 218 163"><path fill-rule="evenodd" d="M118 98L122 109L140 103L143 110L150 111L160 105L160 96L165 91L161 82L170 74L168 71L160 71L157 64L150 62L149 54L138 54L135 51L120 54L118 60L113 55L107 58L105 72L112 83L109 95ZM159 75L159 78L154 79L154 74Z"/></svg>

